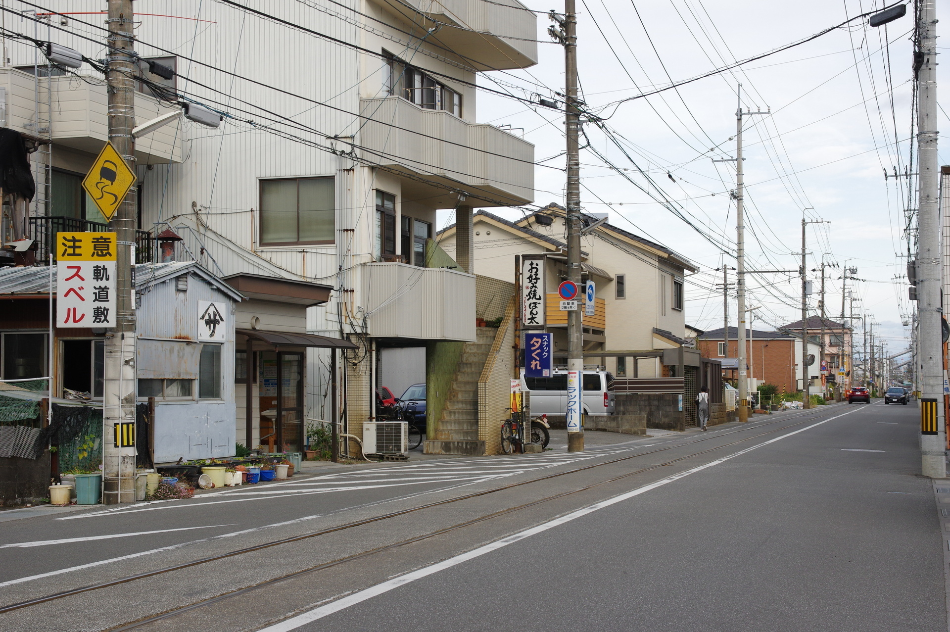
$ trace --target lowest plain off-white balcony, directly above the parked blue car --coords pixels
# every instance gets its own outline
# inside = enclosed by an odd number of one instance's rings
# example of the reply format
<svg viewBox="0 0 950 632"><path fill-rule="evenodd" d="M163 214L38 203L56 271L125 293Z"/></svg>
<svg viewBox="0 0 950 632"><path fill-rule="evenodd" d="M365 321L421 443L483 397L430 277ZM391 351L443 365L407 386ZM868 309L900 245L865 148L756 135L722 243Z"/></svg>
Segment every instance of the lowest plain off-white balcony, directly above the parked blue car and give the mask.
<svg viewBox="0 0 950 632"><path fill-rule="evenodd" d="M371 336L475 339L475 275L406 263L367 263L362 277Z"/></svg>

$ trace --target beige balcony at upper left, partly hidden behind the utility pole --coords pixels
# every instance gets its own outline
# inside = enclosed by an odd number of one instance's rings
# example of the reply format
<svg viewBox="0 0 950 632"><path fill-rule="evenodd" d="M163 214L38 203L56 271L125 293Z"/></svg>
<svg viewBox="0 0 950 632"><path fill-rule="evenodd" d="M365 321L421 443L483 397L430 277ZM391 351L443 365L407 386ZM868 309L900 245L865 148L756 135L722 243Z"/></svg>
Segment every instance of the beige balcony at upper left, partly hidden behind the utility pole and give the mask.
<svg viewBox="0 0 950 632"><path fill-rule="evenodd" d="M90 82L100 75L86 77ZM51 90L51 94L47 92ZM36 129L35 102L39 96L41 128ZM47 95L52 115L47 115ZM108 141L107 97L104 85L90 85L74 76L40 77L16 68L0 69L0 126L30 136L46 137L51 118L52 141L96 155ZM135 94L136 122L141 124L171 111L158 100ZM182 133L175 124L165 125L137 143L138 164L181 162ZM176 134L177 132L177 134Z"/></svg>

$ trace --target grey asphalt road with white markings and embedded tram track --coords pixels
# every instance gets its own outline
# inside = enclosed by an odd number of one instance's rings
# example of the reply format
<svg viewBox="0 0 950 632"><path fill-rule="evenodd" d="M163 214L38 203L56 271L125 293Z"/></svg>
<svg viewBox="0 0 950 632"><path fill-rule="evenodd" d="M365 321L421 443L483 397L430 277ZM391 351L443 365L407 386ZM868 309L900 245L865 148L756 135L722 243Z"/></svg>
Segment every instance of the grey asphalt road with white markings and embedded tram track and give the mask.
<svg viewBox="0 0 950 632"><path fill-rule="evenodd" d="M258 584L136 629L943 632L940 512L918 475L918 414L837 405L583 454L340 468L7 522L9 604L606 463L15 610L0 629L121 629Z"/></svg>

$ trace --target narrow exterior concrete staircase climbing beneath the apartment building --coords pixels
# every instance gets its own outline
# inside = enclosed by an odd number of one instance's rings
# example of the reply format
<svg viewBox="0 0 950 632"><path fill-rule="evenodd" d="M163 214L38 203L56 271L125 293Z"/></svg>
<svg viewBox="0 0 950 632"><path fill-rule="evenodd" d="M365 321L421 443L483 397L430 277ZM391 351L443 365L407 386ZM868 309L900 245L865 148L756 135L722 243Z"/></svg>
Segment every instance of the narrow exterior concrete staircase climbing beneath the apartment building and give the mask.
<svg viewBox="0 0 950 632"><path fill-rule="evenodd" d="M478 327L476 331L475 341L466 342L462 351L435 438L426 442L428 454L485 454L485 441L478 438L478 379L498 330Z"/></svg>

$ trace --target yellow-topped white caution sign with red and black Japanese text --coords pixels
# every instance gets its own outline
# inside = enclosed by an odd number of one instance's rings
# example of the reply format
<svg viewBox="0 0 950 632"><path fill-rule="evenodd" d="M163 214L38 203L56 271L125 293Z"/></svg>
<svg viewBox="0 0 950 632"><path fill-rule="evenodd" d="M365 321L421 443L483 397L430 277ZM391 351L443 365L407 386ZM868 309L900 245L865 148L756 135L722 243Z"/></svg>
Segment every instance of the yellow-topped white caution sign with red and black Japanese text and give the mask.
<svg viewBox="0 0 950 632"><path fill-rule="evenodd" d="M56 234L56 325L115 327L116 234Z"/></svg>

